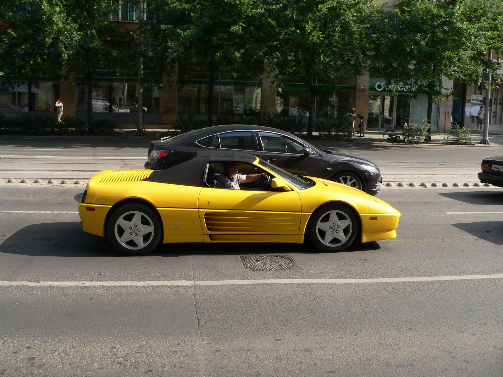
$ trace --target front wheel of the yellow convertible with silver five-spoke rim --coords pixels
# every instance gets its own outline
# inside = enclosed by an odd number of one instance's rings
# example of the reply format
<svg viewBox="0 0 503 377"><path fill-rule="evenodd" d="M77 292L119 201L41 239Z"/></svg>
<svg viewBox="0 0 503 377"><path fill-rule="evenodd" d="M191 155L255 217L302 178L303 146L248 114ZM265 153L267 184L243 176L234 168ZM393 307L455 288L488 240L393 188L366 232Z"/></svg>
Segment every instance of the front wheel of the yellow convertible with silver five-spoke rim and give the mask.
<svg viewBox="0 0 503 377"><path fill-rule="evenodd" d="M357 215L351 207L343 203L328 203L312 213L307 233L309 240L318 249L333 252L351 246L359 228ZM333 238L329 239L330 236Z"/></svg>

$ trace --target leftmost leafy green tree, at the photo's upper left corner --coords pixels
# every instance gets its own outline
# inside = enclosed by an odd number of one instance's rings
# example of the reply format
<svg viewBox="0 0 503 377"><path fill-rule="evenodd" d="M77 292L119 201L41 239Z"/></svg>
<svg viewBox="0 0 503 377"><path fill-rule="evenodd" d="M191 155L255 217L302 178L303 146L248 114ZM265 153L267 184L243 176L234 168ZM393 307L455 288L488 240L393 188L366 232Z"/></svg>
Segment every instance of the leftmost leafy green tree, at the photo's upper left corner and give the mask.
<svg viewBox="0 0 503 377"><path fill-rule="evenodd" d="M75 36L75 27L59 1L4 1L0 6L0 75L59 75ZM34 111L32 81L27 86L29 110Z"/></svg>

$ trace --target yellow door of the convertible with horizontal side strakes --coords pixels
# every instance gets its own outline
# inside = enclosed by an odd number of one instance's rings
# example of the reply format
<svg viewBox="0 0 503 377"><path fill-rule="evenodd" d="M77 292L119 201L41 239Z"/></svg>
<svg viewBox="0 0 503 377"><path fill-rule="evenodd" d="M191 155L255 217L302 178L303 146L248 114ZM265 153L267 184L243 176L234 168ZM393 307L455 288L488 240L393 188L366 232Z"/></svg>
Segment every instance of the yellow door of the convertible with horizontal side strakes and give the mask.
<svg viewBox="0 0 503 377"><path fill-rule="evenodd" d="M198 204L203 232L210 235L210 238L211 235L217 234L299 234L301 205L296 191L248 191L203 187Z"/></svg>

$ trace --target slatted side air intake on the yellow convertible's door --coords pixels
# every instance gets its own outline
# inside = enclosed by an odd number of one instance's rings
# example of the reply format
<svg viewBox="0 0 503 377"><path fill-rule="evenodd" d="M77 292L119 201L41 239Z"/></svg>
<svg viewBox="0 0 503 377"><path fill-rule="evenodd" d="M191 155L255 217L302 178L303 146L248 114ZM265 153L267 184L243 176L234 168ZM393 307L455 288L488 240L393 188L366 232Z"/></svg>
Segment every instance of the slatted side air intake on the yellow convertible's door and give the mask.
<svg viewBox="0 0 503 377"><path fill-rule="evenodd" d="M210 232L225 234L298 234L299 220L291 213L211 212L204 214Z"/></svg>

